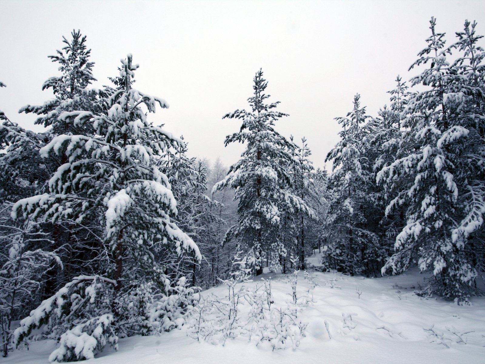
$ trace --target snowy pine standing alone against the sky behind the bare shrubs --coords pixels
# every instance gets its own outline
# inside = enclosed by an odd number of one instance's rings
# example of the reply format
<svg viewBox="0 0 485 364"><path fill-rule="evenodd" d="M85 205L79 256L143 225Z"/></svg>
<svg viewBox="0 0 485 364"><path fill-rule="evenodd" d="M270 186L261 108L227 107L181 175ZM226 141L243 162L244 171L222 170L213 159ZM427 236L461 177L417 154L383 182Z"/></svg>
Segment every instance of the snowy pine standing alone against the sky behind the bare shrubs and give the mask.
<svg viewBox="0 0 485 364"><path fill-rule="evenodd" d="M228 135L225 144L247 143L246 149L213 190L225 186L236 190L238 222L228 230L226 240L237 239L238 244L251 249L252 264L256 274L261 274L267 252L277 258L274 265L286 254L279 239L282 210L311 216L314 212L289 188L293 184L288 170L293 159L289 149L296 147L274 129L275 121L287 114L275 110L279 102L265 103L270 95L264 93L268 83L261 69L253 81L254 96L248 99L251 111L236 110L224 116L242 120L240 131Z"/></svg>

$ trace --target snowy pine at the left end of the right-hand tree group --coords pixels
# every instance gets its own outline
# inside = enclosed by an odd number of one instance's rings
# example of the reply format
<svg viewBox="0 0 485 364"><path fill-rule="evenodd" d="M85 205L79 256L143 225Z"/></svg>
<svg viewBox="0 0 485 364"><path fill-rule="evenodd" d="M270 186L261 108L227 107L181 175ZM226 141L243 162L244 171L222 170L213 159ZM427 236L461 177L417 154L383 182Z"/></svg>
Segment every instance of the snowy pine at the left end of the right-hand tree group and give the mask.
<svg viewBox="0 0 485 364"><path fill-rule="evenodd" d="M355 274L374 274L378 238L368 223L366 208L370 203L368 187L372 183L372 165L366 156L366 131L362 126L367 118L365 106L360 106L356 94L353 110L346 117L337 117L343 130L341 140L326 161L333 160L329 178L332 200L325 224L325 237L330 250L327 264L339 271Z"/></svg>

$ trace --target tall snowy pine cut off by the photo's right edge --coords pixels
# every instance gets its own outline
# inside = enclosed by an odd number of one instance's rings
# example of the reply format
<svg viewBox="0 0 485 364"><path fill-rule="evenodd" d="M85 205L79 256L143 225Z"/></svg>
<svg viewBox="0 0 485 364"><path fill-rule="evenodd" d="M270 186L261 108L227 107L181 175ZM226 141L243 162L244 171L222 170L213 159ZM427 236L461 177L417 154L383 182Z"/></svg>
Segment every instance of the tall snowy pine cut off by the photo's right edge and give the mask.
<svg viewBox="0 0 485 364"><path fill-rule="evenodd" d="M485 271L485 51L477 42L483 35L475 31L477 23L465 20L464 30L457 32L458 41L450 49L462 52L451 66L453 93L446 95L446 102L461 113L456 124L468 130L463 155L458 158L455 175L463 181L457 205L461 220L452 231L452 241L463 248L476 272ZM473 273L473 268L472 268ZM476 282L472 282L476 286Z"/></svg>

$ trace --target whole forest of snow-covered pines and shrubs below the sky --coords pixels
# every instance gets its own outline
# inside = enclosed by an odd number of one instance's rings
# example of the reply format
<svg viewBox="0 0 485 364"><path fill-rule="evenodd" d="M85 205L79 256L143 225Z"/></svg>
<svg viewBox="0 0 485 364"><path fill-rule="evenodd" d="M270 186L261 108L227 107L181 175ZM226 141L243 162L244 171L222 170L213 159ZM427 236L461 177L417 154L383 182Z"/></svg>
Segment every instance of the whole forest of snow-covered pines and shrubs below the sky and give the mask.
<svg viewBox="0 0 485 364"><path fill-rule="evenodd" d="M469 307L485 272L479 34L474 21L445 34L431 18L415 76L397 75L380 110L356 93L335 118L331 170L313 165L305 138L278 132L287 114L262 69L242 108L222 116L234 132L221 143L244 146L226 166L189 157L190 140L153 124L169 103L137 89L136 54L119 55L109 85L93 88L88 37L60 34L48 56L58 73L41 85L52 97L18 111L45 131L0 111L2 355L53 339L49 361L92 359L123 338L183 326L196 341L244 336L295 349L307 326L299 313L314 301L297 294L297 279L315 288L316 271L373 280L419 269L425 279L408 293ZM272 308L268 273L287 277L293 306ZM225 299L204 296L219 286ZM240 301L250 307L244 323ZM327 321L323 332L332 338Z"/></svg>

